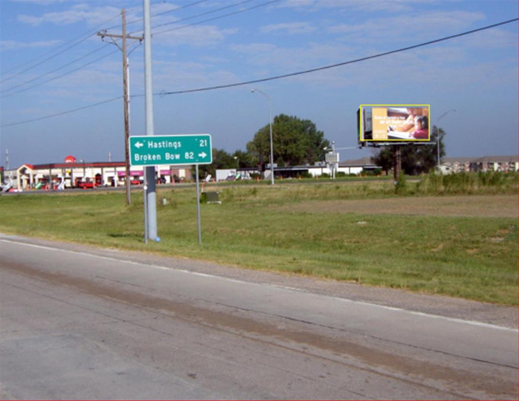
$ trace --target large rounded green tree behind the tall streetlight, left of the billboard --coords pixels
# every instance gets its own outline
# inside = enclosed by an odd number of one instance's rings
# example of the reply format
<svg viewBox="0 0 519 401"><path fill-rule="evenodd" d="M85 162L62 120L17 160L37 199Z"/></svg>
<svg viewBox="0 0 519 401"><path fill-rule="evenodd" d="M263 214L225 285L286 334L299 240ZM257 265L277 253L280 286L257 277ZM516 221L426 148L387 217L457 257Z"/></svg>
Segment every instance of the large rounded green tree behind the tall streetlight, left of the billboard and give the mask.
<svg viewBox="0 0 519 401"><path fill-rule="evenodd" d="M324 160L324 148L330 142L310 120L280 114L272 124L274 163L279 166L297 166ZM269 125L258 130L247 143L247 151L261 166L270 159Z"/></svg>

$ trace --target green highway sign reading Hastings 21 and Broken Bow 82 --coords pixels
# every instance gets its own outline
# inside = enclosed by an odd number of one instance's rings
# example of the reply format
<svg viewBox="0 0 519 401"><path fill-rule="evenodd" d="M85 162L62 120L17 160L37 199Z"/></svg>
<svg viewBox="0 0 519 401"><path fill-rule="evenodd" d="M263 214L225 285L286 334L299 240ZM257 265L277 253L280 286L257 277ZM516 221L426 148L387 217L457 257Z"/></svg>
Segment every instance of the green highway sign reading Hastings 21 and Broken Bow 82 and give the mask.
<svg viewBox="0 0 519 401"><path fill-rule="evenodd" d="M130 137L130 165L211 164L211 149L207 133L134 136Z"/></svg>

